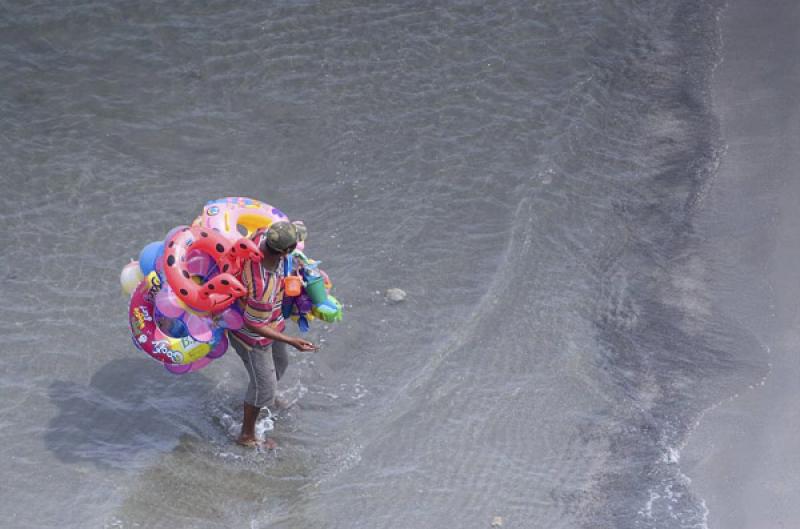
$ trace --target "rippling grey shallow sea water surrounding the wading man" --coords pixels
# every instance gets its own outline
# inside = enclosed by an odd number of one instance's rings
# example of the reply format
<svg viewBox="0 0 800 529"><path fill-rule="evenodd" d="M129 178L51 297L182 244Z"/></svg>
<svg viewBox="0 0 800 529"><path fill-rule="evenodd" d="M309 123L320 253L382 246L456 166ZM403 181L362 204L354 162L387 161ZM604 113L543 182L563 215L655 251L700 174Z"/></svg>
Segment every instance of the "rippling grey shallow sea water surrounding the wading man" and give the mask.
<svg viewBox="0 0 800 529"><path fill-rule="evenodd" d="M764 370L694 223L721 7L1 4L0 517L702 527L680 448ZM306 222L346 304L277 453L231 442L236 355L170 375L118 293L239 195Z"/></svg>

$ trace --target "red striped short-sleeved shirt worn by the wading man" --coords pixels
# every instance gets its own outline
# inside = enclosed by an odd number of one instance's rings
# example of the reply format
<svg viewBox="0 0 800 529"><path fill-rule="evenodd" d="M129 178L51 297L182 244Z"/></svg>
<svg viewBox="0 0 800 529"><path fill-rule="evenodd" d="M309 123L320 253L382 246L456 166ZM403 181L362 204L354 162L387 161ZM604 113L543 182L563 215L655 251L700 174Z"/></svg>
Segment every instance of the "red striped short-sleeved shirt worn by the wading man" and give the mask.
<svg viewBox="0 0 800 529"><path fill-rule="evenodd" d="M266 230L261 229L253 234L253 242L261 248ZM283 331L286 322L283 321L281 304L283 303L283 269L281 258L275 270L267 270L258 261L247 261L242 268L241 281L247 289L247 295L239 300L245 326L236 331L230 331L231 336L247 348L254 346L263 347L272 343L272 340L256 334L247 328L270 326L276 331Z"/></svg>

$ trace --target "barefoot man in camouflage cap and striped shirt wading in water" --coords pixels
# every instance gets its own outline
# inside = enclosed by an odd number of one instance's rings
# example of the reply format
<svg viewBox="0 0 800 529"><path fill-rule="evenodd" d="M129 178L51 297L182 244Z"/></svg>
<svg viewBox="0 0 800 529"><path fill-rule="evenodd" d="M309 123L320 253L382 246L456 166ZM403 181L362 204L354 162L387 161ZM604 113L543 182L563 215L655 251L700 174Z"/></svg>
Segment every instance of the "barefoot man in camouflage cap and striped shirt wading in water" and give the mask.
<svg viewBox="0 0 800 529"><path fill-rule="evenodd" d="M277 444L256 437L256 419L261 408L274 408L278 380L289 365L286 344L299 351L315 351L317 347L302 338L283 334L285 322L281 313L283 301L284 260L297 246L297 228L290 222L275 222L269 229L253 234L253 242L264 254L261 262L248 261L242 270L242 284L247 296L240 302L244 326L230 331L234 349L242 358L250 384L244 398L242 433L237 442L243 446L273 449ZM277 401L277 402L276 402Z"/></svg>

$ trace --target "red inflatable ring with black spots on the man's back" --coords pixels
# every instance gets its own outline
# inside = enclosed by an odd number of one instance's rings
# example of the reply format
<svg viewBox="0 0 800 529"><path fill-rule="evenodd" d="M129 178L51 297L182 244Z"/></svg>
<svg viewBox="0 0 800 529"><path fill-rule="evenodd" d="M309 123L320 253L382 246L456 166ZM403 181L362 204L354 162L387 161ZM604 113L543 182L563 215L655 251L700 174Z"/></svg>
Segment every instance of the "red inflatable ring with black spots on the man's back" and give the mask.
<svg viewBox="0 0 800 529"><path fill-rule="evenodd" d="M190 251L208 254L217 264L219 274L197 284L188 270ZM231 242L221 233L199 226L178 230L164 247L164 275L175 295L190 308L202 312L220 312L230 307L247 291L234 274L246 259L263 256L255 243L245 237Z"/></svg>

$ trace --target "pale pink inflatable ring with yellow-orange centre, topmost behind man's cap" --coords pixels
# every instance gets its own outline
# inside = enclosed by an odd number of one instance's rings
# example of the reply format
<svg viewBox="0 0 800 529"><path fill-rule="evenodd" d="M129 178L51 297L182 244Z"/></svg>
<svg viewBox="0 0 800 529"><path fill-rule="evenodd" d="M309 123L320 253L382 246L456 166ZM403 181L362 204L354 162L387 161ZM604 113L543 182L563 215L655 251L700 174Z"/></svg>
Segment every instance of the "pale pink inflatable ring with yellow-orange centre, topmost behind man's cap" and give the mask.
<svg viewBox="0 0 800 529"><path fill-rule="evenodd" d="M256 230L278 221L288 222L289 217L276 207L252 198L226 197L208 202L192 225L218 231L235 241L242 236L250 238ZM298 248L303 249L302 241Z"/></svg>

